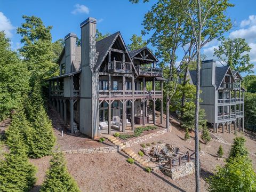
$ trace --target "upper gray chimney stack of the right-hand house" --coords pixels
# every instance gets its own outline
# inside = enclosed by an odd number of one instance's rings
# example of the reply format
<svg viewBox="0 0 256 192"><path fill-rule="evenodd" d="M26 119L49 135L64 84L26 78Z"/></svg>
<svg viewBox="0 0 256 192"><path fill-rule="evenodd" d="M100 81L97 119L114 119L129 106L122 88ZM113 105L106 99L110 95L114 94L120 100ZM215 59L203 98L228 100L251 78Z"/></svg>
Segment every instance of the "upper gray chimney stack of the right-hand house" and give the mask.
<svg viewBox="0 0 256 192"><path fill-rule="evenodd" d="M202 61L202 73L200 78L202 87L215 85L215 61Z"/></svg>

